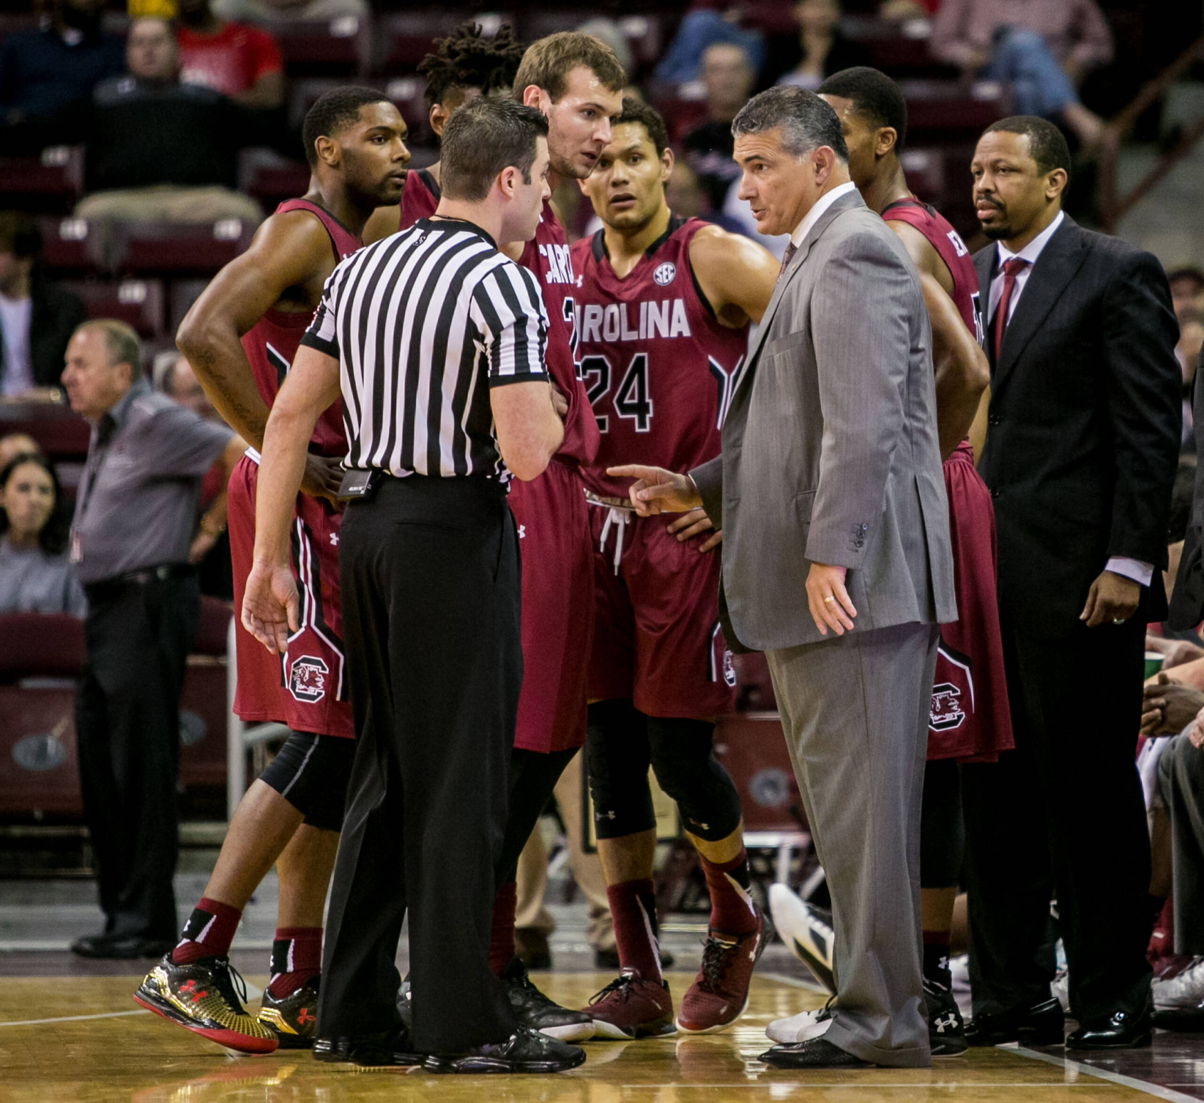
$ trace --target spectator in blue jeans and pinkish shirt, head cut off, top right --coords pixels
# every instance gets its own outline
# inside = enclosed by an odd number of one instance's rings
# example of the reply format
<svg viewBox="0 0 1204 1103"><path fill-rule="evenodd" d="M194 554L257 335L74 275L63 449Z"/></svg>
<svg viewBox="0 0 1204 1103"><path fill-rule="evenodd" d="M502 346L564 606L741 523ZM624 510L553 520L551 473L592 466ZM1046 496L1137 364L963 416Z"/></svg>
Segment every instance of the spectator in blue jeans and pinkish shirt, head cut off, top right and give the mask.
<svg viewBox="0 0 1204 1103"><path fill-rule="evenodd" d="M1112 36L1096 0L944 0L932 24L934 57L1011 82L1016 114L1064 123L1084 147L1104 123L1079 102L1076 87L1112 58Z"/></svg>

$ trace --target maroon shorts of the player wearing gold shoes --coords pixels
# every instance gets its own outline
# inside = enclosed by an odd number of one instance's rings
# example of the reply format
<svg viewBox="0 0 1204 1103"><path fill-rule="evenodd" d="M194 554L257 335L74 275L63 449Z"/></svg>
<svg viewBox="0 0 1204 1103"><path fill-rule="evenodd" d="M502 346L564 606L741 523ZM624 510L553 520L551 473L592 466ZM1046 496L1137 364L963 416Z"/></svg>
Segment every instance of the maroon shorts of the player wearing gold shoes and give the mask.
<svg viewBox="0 0 1204 1103"><path fill-rule="evenodd" d="M226 513L234 565L238 688L234 710L246 721L287 724L293 731L353 737L338 606L338 527L329 502L297 495L289 543L301 600L301 627L285 655L272 655L242 626L242 597L255 548L259 464L244 455L230 474Z"/></svg>

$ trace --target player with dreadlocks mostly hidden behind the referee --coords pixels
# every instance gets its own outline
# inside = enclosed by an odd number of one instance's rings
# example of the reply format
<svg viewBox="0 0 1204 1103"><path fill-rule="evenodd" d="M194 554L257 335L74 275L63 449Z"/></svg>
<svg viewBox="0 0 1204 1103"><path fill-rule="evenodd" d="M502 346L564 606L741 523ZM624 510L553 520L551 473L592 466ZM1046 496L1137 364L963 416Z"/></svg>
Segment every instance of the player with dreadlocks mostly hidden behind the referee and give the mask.
<svg viewBox="0 0 1204 1103"><path fill-rule="evenodd" d="M452 112L479 96L509 96L514 76L526 47L515 42L508 23L486 39L480 24L461 23L445 39L435 40L435 49L423 58L418 71L426 77L427 122L436 137L442 137ZM411 169L400 204L380 207L364 228L364 242L371 244L401 226L430 218L438 206L439 164Z"/></svg>

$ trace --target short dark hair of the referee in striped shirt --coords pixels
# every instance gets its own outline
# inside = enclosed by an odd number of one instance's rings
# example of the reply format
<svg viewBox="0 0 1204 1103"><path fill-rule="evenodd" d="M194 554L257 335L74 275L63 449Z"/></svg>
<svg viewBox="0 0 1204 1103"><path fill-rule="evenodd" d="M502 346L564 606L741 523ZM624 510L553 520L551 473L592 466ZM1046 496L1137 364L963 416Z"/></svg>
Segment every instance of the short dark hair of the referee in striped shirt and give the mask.
<svg viewBox="0 0 1204 1103"><path fill-rule="evenodd" d="M548 119L517 100L482 96L448 119L441 146L439 185L448 199L480 202L497 175L515 167L531 183L536 140L548 136Z"/></svg>

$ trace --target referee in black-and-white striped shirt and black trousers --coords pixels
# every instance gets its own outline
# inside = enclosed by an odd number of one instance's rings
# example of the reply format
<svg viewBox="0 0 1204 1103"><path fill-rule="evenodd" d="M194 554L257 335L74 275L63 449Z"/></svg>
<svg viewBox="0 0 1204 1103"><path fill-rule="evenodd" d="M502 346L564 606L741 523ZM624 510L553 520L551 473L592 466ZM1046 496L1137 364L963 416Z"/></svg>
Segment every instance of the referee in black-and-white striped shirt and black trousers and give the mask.
<svg viewBox="0 0 1204 1103"><path fill-rule="evenodd" d="M497 242L535 235L547 132L539 112L513 101L455 113L438 210L335 269L264 435L242 619L283 653L300 624L291 503L314 421L342 396L350 501L340 578L359 744L319 1060L470 1073L585 1060L518 1026L488 965L523 682L507 483L536 478L563 436L538 284ZM412 1034L395 1004L407 912Z"/></svg>

